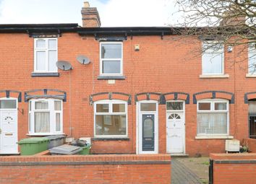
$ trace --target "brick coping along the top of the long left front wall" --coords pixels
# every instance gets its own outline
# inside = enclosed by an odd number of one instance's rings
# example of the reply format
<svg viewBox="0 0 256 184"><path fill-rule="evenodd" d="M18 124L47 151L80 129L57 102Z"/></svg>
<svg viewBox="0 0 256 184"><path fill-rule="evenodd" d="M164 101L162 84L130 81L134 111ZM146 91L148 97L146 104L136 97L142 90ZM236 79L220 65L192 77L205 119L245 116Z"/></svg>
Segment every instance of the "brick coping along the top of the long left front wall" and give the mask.
<svg viewBox="0 0 256 184"><path fill-rule="evenodd" d="M35 155L0 157L1 165L169 165L169 154Z"/></svg>

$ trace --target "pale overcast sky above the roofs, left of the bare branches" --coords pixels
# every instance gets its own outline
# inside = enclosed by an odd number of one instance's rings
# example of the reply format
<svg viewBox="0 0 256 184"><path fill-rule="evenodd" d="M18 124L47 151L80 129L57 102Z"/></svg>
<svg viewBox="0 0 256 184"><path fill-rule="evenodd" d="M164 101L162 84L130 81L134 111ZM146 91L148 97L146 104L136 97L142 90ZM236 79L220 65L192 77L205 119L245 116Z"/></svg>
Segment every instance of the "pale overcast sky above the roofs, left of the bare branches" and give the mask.
<svg viewBox="0 0 256 184"><path fill-rule="evenodd" d="M0 24L78 23L86 0L0 0ZM167 26L176 22L175 0L88 0L102 27Z"/></svg>

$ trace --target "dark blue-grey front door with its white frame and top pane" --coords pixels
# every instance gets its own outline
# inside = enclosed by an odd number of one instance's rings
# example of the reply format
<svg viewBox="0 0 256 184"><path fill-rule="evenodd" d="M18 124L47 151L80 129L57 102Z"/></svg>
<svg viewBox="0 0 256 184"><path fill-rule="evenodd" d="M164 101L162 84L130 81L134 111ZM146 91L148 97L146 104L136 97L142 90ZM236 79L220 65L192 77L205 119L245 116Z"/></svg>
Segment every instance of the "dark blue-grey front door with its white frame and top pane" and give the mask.
<svg viewBox="0 0 256 184"><path fill-rule="evenodd" d="M158 153L158 102L137 102L137 153Z"/></svg>

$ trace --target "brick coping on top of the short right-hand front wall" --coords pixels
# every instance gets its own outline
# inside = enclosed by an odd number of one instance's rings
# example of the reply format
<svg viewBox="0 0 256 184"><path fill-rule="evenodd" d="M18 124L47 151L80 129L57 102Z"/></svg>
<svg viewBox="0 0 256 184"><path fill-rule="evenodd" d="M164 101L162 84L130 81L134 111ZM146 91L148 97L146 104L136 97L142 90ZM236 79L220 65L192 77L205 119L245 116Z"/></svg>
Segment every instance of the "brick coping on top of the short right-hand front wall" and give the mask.
<svg viewBox="0 0 256 184"><path fill-rule="evenodd" d="M256 163L256 153L234 153L234 154L210 154L210 159L215 162L224 163L225 162L237 162L237 161L252 161Z"/></svg>

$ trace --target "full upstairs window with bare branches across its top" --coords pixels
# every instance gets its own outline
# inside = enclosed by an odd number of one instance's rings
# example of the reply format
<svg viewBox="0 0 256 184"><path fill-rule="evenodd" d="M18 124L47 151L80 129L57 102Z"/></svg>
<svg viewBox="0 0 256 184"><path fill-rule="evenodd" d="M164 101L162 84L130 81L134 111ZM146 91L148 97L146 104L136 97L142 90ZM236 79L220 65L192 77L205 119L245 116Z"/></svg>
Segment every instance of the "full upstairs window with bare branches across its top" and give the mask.
<svg viewBox="0 0 256 184"><path fill-rule="evenodd" d="M224 74L224 46L222 43L202 43L202 75Z"/></svg>

